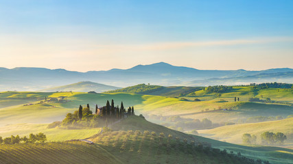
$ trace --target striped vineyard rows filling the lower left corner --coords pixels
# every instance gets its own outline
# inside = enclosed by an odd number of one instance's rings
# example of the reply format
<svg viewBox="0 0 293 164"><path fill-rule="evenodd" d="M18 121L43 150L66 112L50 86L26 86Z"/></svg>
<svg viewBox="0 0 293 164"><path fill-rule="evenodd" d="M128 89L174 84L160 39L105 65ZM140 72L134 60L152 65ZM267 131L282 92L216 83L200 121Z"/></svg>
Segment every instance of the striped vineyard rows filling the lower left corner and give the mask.
<svg viewBox="0 0 293 164"><path fill-rule="evenodd" d="M0 146L0 163L121 163L99 146L80 142Z"/></svg>

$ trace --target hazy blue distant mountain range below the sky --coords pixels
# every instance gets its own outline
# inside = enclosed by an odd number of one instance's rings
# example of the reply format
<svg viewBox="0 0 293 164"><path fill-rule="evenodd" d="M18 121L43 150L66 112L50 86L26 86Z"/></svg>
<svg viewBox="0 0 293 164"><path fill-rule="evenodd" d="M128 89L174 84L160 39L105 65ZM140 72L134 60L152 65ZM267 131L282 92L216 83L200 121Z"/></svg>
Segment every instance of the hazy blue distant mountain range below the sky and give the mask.
<svg viewBox="0 0 293 164"><path fill-rule="evenodd" d="M80 81L93 81L117 87L138 83L152 85L239 85L247 83L283 82L292 83L293 69L275 68L269 70L198 70L183 66L172 66L160 62L138 65L133 68L107 71L76 72L47 68L0 68L0 91L34 91Z"/></svg>

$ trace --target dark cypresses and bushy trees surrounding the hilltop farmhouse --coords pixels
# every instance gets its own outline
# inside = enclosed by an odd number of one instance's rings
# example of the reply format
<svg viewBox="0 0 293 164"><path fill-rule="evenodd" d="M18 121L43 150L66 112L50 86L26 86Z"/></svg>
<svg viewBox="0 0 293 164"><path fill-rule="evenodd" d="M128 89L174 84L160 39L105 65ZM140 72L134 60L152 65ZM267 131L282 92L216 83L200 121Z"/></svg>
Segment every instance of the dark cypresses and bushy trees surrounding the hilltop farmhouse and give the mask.
<svg viewBox="0 0 293 164"><path fill-rule="evenodd" d="M112 100L111 105L107 100L106 106L98 108L95 105L95 113L91 111L89 104L86 107L80 105L78 111L73 113L67 113L66 118L62 121L63 126L108 126L110 122L115 122L121 118L128 117L129 115L134 115L134 107L124 108L123 102L121 106L115 107L114 100Z"/></svg>

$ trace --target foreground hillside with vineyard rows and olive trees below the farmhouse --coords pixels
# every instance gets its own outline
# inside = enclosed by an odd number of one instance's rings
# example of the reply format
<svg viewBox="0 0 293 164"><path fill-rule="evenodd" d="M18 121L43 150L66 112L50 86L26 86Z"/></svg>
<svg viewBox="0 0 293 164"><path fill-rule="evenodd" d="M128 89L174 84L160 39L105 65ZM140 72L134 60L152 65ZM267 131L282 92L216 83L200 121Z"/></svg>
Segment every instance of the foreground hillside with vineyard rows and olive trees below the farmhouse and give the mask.
<svg viewBox="0 0 293 164"><path fill-rule="evenodd" d="M238 146L187 135L135 115L110 128L112 131L104 131L102 134L97 132L89 137L88 140L95 143L93 145L80 141L2 145L0 159L2 163L231 164L252 163L251 160L244 159L244 156L270 163L292 163L293 160L293 151L289 149ZM78 139L83 138L86 137L80 135Z"/></svg>

